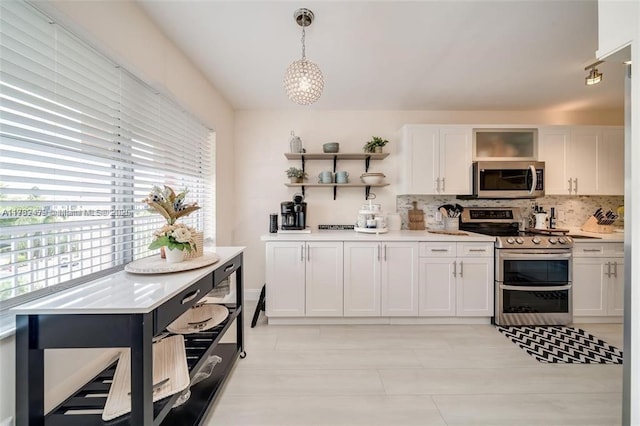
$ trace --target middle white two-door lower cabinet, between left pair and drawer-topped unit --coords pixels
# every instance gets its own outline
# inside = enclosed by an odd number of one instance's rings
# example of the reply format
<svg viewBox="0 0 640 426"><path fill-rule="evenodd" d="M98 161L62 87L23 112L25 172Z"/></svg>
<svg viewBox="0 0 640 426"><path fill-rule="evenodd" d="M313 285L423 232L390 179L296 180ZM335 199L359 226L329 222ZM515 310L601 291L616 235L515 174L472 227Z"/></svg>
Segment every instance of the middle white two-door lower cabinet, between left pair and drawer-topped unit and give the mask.
<svg viewBox="0 0 640 426"><path fill-rule="evenodd" d="M417 316L418 243L344 243L344 316Z"/></svg>

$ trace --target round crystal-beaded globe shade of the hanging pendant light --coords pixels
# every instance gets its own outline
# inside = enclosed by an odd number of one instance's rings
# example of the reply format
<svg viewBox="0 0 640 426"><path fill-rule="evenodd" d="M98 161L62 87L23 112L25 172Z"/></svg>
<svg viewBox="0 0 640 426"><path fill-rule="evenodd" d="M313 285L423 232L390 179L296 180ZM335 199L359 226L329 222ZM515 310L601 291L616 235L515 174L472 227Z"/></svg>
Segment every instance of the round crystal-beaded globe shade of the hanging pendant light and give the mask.
<svg viewBox="0 0 640 426"><path fill-rule="evenodd" d="M317 101L324 89L322 71L305 58L289 65L284 76L284 89L289 99L299 105L310 105Z"/></svg>

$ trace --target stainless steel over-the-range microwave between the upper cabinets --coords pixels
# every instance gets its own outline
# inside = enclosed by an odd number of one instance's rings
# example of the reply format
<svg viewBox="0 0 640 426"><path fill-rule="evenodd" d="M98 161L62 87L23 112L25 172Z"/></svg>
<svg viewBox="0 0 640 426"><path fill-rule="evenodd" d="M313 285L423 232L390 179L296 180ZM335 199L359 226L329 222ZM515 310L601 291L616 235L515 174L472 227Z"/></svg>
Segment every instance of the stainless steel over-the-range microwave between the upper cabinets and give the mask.
<svg viewBox="0 0 640 426"><path fill-rule="evenodd" d="M543 161L476 161L474 198L544 197Z"/></svg>

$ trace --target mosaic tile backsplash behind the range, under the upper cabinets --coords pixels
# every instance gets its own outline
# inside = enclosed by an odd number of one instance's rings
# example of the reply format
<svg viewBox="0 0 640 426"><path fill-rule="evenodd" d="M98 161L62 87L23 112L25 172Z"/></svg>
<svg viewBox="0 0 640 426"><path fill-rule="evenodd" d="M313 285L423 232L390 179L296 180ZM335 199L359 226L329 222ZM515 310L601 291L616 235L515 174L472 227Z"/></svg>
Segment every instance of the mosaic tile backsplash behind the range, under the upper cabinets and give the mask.
<svg viewBox="0 0 640 426"><path fill-rule="evenodd" d="M428 228L442 228L442 222L436 220L436 212L443 204L460 204L463 207L516 207L520 208L523 215L530 214L534 204L542 206L546 212L554 207L558 217L557 227L569 228L580 227L599 207L604 211L611 209L615 212L624 204L624 197L550 195L532 200L459 200L450 195L399 195L396 197L396 210L402 217L402 229L409 229L408 211L413 208L414 201L418 203L417 208L424 211L424 221ZM622 227L622 218L618 219L614 226Z"/></svg>

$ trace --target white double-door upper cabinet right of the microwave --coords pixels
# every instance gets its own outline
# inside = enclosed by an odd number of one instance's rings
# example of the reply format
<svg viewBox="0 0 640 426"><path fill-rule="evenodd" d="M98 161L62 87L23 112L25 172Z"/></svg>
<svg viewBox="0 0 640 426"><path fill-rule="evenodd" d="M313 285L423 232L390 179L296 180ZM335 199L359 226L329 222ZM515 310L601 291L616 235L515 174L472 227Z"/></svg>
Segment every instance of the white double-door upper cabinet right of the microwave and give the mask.
<svg viewBox="0 0 640 426"><path fill-rule="evenodd" d="M614 126L540 128L546 195L623 195L624 129Z"/></svg>

